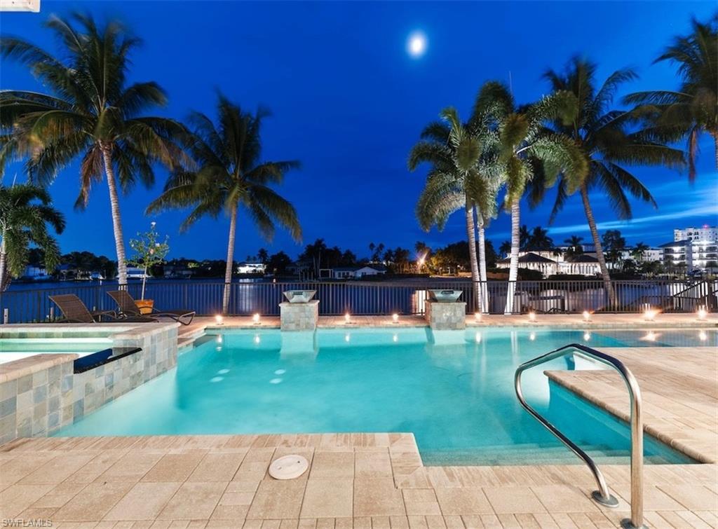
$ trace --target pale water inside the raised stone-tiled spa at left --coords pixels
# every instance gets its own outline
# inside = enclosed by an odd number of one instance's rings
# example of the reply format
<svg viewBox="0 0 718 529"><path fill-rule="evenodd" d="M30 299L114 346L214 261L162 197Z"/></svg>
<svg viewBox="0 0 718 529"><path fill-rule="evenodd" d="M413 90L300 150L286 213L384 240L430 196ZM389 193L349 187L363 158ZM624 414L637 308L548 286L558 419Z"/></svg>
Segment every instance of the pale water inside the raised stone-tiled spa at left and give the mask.
<svg viewBox="0 0 718 529"><path fill-rule="evenodd" d="M80 356L112 347L102 337L17 337L0 338L0 364L33 355L74 352Z"/></svg>

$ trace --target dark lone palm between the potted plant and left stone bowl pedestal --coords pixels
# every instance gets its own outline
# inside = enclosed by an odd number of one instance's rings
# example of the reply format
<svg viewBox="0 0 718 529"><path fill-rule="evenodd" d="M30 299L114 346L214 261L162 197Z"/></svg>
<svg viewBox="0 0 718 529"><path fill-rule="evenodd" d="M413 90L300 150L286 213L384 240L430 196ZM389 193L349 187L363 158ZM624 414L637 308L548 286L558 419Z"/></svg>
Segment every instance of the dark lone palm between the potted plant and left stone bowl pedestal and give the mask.
<svg viewBox="0 0 718 529"><path fill-rule="evenodd" d="M200 217L218 217L220 212L229 216L229 237L222 311L229 309L232 263L237 230L237 217L241 207L259 228L261 235L271 240L275 223L283 226L299 242L302 228L297 211L279 196L271 184L280 184L284 174L299 167L298 161L261 161L261 123L269 115L259 110L256 114L243 111L224 95L218 95L217 125L208 116L194 112L190 116L195 126L192 141L192 158L199 169L194 172L174 172L164 192L147 207L148 213L172 207L192 207L180 226L187 230Z"/></svg>

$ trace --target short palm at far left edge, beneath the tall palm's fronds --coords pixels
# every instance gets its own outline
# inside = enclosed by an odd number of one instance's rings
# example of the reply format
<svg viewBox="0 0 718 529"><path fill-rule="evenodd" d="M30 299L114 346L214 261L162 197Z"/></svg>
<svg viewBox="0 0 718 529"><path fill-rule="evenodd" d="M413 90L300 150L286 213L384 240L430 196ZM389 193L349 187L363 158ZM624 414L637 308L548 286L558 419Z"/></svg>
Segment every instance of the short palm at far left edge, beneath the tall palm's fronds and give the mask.
<svg viewBox="0 0 718 529"><path fill-rule="evenodd" d="M65 217L52 207L45 189L33 184L0 185L0 292L11 276L22 275L31 244L42 250L47 271L60 263L60 248L48 225L60 234Z"/></svg>

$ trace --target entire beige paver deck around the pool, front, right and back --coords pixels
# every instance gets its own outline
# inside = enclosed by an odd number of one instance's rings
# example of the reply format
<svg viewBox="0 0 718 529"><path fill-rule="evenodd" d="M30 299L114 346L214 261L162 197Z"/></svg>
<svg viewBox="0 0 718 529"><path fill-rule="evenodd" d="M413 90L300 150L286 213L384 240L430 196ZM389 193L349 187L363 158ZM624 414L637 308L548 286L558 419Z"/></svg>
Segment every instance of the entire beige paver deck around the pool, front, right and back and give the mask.
<svg viewBox="0 0 718 529"><path fill-rule="evenodd" d="M661 314L653 324L635 314L593 319L541 315L531 325L716 326L691 314ZM355 320L393 325L386 317ZM184 340L206 324L213 319L183 327ZM417 324L423 319L402 317L398 325ZM479 325L498 324L529 323L485 317ZM343 318L320 319L320 326L343 325ZM225 319L231 326L253 327L249 318ZM651 434L702 461L718 459L714 347L605 351L638 378ZM607 372L551 376L618 416L628 411L622 382ZM269 477L269 463L290 453L307 457L309 472ZM411 434L18 439L0 446L0 519L48 519L62 529L615 528L628 516L629 467L601 469L617 509L589 500L595 484L580 464L424 467ZM644 501L650 527L717 528L718 466L646 465Z"/></svg>

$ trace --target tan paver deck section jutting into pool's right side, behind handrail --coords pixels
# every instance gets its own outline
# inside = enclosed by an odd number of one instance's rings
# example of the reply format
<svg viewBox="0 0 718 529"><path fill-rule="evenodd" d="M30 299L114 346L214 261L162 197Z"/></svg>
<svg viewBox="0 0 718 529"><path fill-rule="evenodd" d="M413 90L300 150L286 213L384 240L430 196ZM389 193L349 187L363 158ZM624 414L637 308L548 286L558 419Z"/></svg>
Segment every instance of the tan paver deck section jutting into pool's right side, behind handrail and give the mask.
<svg viewBox="0 0 718 529"><path fill-rule="evenodd" d="M602 349L609 355L616 356L625 362L638 379L643 395L643 430L671 446L686 456L701 463L715 463L718 460L714 418L710 418L710 411L714 415L714 397L701 392L701 383L711 383L709 375L703 373L684 373L692 380L686 380L686 388L676 388L666 379L661 380L654 375L656 370L668 370L685 365L699 365L696 362L685 360L681 366L681 356L685 355L714 355L713 347L607 347ZM654 355L651 358L651 355ZM663 356L664 364L653 366L658 355ZM632 359L633 357L633 359ZM640 357L640 358L636 358ZM646 360L653 360L649 363ZM675 369L675 370L679 370ZM620 418L630 421L630 408L628 406L628 392L620 377L610 370L600 371L557 371L546 370L546 376L554 383L579 395L590 403ZM666 373L663 373L666 376ZM676 380L676 375L667 375L666 378ZM702 380L701 380L702 379ZM692 385L692 390L687 390ZM699 401L699 402L696 402ZM709 426L711 425L711 426Z"/></svg>

